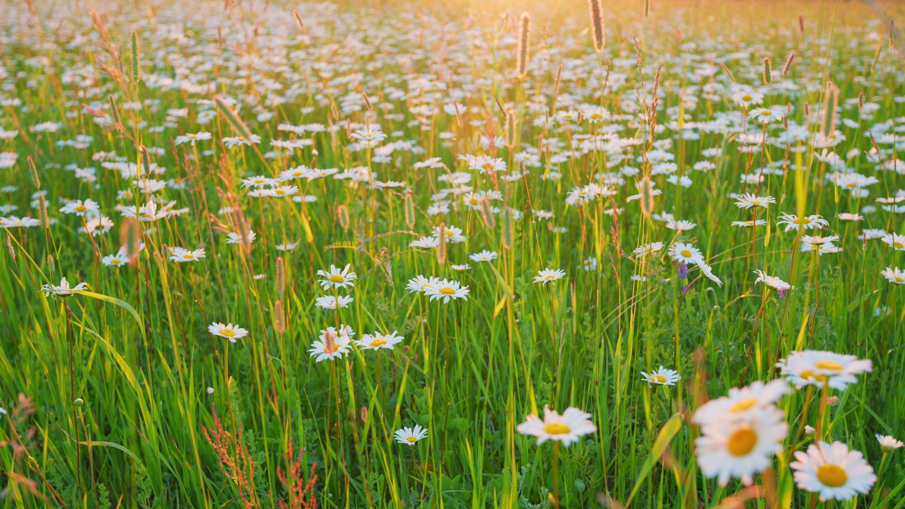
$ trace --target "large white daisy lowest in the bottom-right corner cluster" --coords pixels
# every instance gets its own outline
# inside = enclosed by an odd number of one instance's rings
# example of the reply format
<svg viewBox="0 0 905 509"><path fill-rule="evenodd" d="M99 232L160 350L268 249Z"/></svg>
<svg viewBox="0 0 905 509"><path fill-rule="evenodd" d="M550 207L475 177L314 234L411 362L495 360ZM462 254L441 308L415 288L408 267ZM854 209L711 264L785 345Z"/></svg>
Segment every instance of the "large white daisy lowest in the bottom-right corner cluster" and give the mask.
<svg viewBox="0 0 905 509"><path fill-rule="evenodd" d="M806 452L795 452L795 460L789 467L795 470L798 487L818 494L821 501L850 500L867 494L877 482L861 452L850 451L842 442L812 444Z"/></svg>

